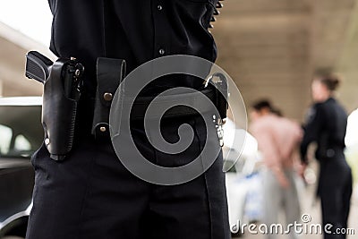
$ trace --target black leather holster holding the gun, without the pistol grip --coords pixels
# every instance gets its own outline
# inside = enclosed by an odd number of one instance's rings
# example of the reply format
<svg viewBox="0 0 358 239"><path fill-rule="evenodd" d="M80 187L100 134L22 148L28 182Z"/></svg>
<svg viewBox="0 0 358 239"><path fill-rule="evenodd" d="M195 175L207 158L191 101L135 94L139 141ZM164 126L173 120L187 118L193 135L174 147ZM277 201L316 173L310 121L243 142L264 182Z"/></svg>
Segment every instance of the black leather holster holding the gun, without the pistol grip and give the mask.
<svg viewBox="0 0 358 239"><path fill-rule="evenodd" d="M63 160L72 149L77 113L78 101L67 98L64 94L62 73L65 64L62 60L53 64L43 95L42 125L45 145L50 157L55 160Z"/></svg>

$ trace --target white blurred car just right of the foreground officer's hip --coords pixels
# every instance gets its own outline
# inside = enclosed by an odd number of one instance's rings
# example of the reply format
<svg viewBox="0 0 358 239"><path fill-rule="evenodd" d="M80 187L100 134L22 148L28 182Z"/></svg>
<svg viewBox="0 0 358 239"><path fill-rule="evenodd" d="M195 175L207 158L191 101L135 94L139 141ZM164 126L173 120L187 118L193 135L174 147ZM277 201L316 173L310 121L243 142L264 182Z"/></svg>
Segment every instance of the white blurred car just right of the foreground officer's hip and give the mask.
<svg viewBox="0 0 358 239"><path fill-rule="evenodd" d="M257 170L260 156L257 141L249 132L235 129L233 122L225 124L224 135L229 222L231 227L235 227L261 218L262 187Z"/></svg>

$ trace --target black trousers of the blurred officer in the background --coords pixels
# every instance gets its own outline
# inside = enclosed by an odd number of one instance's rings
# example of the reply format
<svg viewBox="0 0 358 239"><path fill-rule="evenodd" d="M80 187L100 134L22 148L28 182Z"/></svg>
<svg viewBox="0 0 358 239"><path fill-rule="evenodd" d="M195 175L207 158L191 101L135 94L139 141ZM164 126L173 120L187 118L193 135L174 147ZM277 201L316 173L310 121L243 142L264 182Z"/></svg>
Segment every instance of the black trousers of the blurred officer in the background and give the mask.
<svg viewBox="0 0 358 239"><path fill-rule="evenodd" d="M319 195L322 208L322 224L328 226L325 239L346 238L345 229L352 195L352 173L343 151L335 158L320 159ZM342 233L343 232L343 233Z"/></svg>

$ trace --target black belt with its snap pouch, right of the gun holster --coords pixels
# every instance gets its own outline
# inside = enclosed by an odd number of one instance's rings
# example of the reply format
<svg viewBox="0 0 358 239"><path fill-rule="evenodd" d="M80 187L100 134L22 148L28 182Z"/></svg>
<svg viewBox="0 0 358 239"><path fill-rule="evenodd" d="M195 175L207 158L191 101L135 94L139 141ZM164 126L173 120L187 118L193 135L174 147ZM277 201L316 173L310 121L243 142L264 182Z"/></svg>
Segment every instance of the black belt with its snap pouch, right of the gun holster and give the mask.
<svg viewBox="0 0 358 239"><path fill-rule="evenodd" d="M115 96L115 91L123 81L125 76L125 61L120 59L99 57L97 61L97 93L95 100L94 117L92 124L92 133L96 136L106 135L109 133L109 111ZM226 83L226 82L225 82ZM227 86L226 86L227 91ZM208 104L208 101L202 100L202 95L205 95L211 100L213 104ZM154 100L155 99L155 100ZM201 99L201 100L200 100ZM130 107L131 120L142 120L146 115L146 111L150 104L152 109L150 117L177 117L190 116L206 113L214 113L217 108L217 118L226 118L227 103L226 98L215 89L214 86L209 85L200 91L183 92L175 95L161 95L158 97L125 97L122 102L123 107ZM158 105L158 107L156 107ZM175 106L179 105L179 106ZM156 109L164 106L171 107L163 115L163 112ZM191 106L191 107L185 107ZM213 107L215 106L215 107ZM200 108L197 112L193 108ZM129 120L129 119L128 119Z"/></svg>

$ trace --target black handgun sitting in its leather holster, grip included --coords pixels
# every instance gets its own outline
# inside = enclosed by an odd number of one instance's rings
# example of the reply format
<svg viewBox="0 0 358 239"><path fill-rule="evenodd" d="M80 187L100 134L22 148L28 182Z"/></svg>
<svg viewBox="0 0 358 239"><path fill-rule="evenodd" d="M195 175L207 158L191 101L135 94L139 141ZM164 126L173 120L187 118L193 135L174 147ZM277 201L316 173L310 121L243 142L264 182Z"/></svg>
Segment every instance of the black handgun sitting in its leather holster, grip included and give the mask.
<svg viewBox="0 0 358 239"><path fill-rule="evenodd" d="M41 123L52 159L64 160L72 149L83 73L83 65L73 57L59 57L54 63L36 51L26 55L25 75L44 84Z"/></svg>

